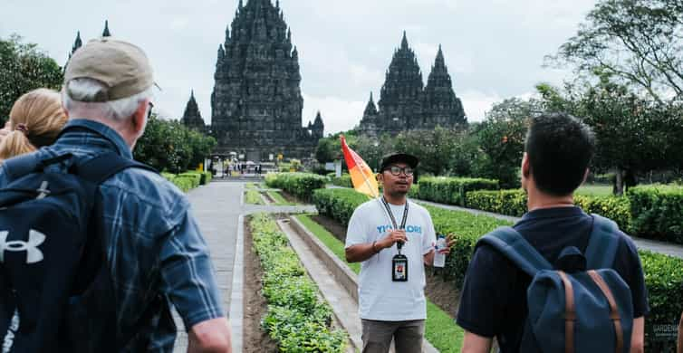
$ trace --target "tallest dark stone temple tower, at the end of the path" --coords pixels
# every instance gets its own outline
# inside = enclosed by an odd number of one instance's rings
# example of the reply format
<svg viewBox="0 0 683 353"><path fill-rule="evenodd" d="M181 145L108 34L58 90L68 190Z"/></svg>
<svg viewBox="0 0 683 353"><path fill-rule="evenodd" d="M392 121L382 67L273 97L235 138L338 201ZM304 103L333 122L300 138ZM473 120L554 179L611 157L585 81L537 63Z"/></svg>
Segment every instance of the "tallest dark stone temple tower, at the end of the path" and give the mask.
<svg viewBox="0 0 683 353"><path fill-rule="evenodd" d="M324 124L320 113L303 127L299 53L280 2L239 1L226 41L218 46L211 95L215 154L248 160L312 157Z"/></svg>

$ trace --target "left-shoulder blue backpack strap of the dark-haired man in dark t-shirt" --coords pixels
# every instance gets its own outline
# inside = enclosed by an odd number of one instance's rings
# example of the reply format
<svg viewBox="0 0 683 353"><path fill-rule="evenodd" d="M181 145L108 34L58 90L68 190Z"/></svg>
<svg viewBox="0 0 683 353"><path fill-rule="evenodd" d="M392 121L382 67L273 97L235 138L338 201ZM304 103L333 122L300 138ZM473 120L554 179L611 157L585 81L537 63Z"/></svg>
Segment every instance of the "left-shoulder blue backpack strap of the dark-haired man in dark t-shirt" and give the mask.
<svg viewBox="0 0 683 353"><path fill-rule="evenodd" d="M532 277L541 270L553 270L553 265L512 227L496 228L493 232L484 235L479 240L479 244L481 243L493 246L508 260L514 262L520 270Z"/></svg>

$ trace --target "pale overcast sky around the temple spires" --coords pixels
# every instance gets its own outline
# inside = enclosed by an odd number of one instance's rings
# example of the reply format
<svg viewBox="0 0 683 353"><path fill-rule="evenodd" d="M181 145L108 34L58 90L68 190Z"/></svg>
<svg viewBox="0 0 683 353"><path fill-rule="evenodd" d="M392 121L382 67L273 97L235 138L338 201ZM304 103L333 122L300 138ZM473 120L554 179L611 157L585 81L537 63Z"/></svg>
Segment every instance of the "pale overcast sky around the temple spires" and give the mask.
<svg viewBox="0 0 683 353"><path fill-rule="evenodd" d="M63 64L76 31L85 42L99 36L109 19L112 35L148 53L163 89L155 107L178 119L194 89L208 123L216 51L225 41L237 3L0 0L0 37L18 33ZM569 72L543 68L544 55L576 33L594 4L595 0L281 0L299 49L303 125L317 110L322 111L325 134L357 125L370 91L379 99L403 30L418 54L425 83L442 44L468 119L481 120L496 101L528 97L536 83L559 84L568 77Z"/></svg>

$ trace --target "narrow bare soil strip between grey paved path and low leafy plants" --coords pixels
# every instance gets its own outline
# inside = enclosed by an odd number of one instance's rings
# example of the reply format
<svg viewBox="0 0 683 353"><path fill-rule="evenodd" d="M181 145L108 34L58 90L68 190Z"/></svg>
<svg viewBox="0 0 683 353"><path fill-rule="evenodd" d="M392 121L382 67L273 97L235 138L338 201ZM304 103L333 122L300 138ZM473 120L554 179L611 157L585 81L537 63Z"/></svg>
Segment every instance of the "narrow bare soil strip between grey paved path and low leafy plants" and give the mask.
<svg viewBox="0 0 683 353"><path fill-rule="evenodd" d="M245 353L277 352L277 343L261 328L261 319L267 311L267 303L261 294L263 269L252 248L252 234L245 220L245 285L243 339Z"/></svg>

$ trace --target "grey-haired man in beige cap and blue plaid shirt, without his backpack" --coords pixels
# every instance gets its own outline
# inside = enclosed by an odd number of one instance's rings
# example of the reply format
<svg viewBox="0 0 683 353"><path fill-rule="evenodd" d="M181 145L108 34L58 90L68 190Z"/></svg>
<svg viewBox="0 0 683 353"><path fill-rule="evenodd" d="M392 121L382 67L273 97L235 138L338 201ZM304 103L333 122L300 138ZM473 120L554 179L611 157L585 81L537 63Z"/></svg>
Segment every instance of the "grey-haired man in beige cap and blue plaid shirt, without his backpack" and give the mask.
<svg viewBox="0 0 683 353"><path fill-rule="evenodd" d="M55 144L36 156L71 154L78 163L105 154L132 159L149 119L153 86L149 60L137 46L111 37L92 40L73 54L64 73L63 106L70 120ZM3 165L0 187L11 181ZM171 352L173 306L188 329L188 351L229 352L215 271L187 197L139 167L114 174L98 191L101 215L93 218L111 273L116 321L116 348L110 349Z"/></svg>

